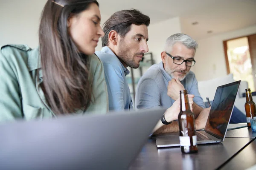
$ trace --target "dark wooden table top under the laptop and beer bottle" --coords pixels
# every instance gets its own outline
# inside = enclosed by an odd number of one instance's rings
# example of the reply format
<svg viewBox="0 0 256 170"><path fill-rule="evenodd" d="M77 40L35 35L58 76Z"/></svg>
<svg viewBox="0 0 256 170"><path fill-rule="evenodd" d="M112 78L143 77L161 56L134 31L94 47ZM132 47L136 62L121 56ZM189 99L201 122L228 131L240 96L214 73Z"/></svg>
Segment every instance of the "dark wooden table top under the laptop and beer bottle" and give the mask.
<svg viewBox="0 0 256 170"><path fill-rule="evenodd" d="M255 138L256 133L248 130L247 127L229 130L223 143L198 145L198 153L195 154L182 154L180 147L157 149L155 139L148 139L131 164L130 170L244 169L245 166L240 168L236 164L244 164L239 159L247 153L253 156L252 159L256 158ZM248 167L254 162L256 161L250 161Z"/></svg>

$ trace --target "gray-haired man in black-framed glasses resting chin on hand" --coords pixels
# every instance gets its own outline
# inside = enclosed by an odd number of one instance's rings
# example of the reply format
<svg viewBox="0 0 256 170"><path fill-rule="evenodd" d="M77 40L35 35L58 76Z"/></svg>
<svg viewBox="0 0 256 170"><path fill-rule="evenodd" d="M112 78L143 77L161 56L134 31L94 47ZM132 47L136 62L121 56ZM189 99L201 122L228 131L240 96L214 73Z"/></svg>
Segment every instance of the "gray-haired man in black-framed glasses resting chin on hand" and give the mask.
<svg viewBox="0 0 256 170"><path fill-rule="evenodd" d="M195 64L195 51L198 43L186 34L174 34L167 38L164 51L161 53L162 62L152 65L145 72L137 85L136 108L155 108L163 106L179 112L175 104L180 96L180 90L186 89L188 94L194 95L193 113L195 113L196 129L205 126L209 108L205 108L203 99L198 92L198 82L190 68ZM173 109L173 108L176 109ZM177 113L174 113L177 115ZM167 122L161 119L165 126L155 134L177 132L177 121Z"/></svg>

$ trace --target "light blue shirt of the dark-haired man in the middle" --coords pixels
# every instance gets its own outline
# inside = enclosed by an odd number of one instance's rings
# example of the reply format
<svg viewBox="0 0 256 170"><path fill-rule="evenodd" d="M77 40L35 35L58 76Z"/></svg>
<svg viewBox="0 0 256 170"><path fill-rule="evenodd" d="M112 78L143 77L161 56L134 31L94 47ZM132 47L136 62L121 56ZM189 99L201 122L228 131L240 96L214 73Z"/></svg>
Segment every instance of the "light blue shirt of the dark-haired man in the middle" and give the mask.
<svg viewBox="0 0 256 170"><path fill-rule="evenodd" d="M109 110L133 110L130 89L125 78L126 75L130 74L129 70L122 65L108 47L103 47L101 51L96 51L95 54L103 62L108 88Z"/></svg>

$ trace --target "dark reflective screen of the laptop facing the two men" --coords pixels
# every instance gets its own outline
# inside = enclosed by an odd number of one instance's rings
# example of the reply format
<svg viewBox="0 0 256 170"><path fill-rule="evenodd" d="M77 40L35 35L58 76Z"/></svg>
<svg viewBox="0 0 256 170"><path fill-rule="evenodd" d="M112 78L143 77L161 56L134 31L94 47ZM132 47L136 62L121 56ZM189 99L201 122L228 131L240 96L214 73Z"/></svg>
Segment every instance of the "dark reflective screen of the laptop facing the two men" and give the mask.
<svg viewBox="0 0 256 170"><path fill-rule="evenodd" d="M241 81L219 86L216 90L205 131L223 140Z"/></svg>

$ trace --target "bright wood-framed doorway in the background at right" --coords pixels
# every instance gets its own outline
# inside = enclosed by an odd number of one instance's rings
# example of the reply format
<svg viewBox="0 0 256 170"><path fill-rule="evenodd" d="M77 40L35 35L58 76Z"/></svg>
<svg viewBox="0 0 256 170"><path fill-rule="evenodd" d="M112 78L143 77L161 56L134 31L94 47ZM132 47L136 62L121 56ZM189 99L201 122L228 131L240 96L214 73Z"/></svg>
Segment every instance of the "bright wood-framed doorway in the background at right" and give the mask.
<svg viewBox="0 0 256 170"><path fill-rule="evenodd" d="M227 73L256 91L256 34L223 41Z"/></svg>

